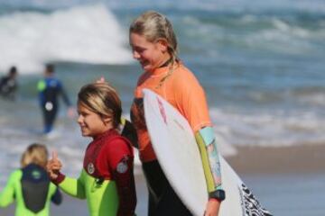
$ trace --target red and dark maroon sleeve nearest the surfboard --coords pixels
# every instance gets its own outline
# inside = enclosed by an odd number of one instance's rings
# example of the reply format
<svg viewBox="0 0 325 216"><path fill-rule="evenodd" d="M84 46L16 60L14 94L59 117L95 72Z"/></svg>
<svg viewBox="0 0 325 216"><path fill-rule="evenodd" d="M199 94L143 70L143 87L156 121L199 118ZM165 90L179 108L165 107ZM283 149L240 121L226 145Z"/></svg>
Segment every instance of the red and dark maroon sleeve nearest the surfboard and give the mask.
<svg viewBox="0 0 325 216"><path fill-rule="evenodd" d="M108 146L108 145L107 145ZM114 139L107 148L107 161L116 181L119 206L117 216L135 215L136 194L132 148L124 139Z"/></svg>

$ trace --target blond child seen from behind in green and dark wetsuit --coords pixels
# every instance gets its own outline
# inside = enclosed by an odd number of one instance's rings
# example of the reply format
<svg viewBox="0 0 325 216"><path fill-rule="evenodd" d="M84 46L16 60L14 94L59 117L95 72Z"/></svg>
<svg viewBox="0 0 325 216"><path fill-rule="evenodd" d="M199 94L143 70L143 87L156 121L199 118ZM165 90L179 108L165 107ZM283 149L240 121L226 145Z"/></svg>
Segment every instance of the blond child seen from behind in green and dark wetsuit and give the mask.
<svg viewBox="0 0 325 216"><path fill-rule="evenodd" d="M60 204L59 189L50 182L46 173L47 149L42 144L32 144L23 153L22 168L9 177L0 193L0 207L16 202L15 216L48 216L50 201Z"/></svg>

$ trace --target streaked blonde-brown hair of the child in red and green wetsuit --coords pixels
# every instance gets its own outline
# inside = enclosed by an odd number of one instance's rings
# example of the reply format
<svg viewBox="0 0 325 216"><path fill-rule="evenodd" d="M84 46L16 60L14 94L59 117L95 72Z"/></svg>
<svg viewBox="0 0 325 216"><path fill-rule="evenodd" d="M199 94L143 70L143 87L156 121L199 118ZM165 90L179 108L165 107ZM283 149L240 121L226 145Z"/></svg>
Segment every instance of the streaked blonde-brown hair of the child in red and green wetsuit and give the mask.
<svg viewBox="0 0 325 216"><path fill-rule="evenodd" d="M92 83L81 87L78 103L100 116L112 118L113 127L121 122L122 105L116 90L107 83Z"/></svg>

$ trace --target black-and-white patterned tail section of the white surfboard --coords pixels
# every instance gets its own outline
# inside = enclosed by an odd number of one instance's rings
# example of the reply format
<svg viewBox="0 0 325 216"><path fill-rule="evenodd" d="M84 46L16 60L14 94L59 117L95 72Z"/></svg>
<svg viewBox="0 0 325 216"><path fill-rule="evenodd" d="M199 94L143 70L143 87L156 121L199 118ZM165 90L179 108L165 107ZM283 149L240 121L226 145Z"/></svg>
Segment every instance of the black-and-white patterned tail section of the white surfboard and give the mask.
<svg viewBox="0 0 325 216"><path fill-rule="evenodd" d="M254 194L249 190L245 184L241 184L238 187L241 206L245 216L272 216L270 211L265 210L261 204L257 201Z"/></svg>

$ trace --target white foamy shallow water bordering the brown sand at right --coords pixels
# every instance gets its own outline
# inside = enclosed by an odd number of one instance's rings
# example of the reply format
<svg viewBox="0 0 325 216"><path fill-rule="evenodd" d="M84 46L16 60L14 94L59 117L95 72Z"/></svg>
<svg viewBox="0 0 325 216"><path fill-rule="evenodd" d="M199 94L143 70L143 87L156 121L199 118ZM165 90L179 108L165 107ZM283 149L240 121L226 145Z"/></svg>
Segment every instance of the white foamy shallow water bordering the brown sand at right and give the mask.
<svg viewBox="0 0 325 216"><path fill-rule="evenodd" d="M325 121L315 112L230 112L212 109L217 137L231 145L283 147L325 143Z"/></svg>

